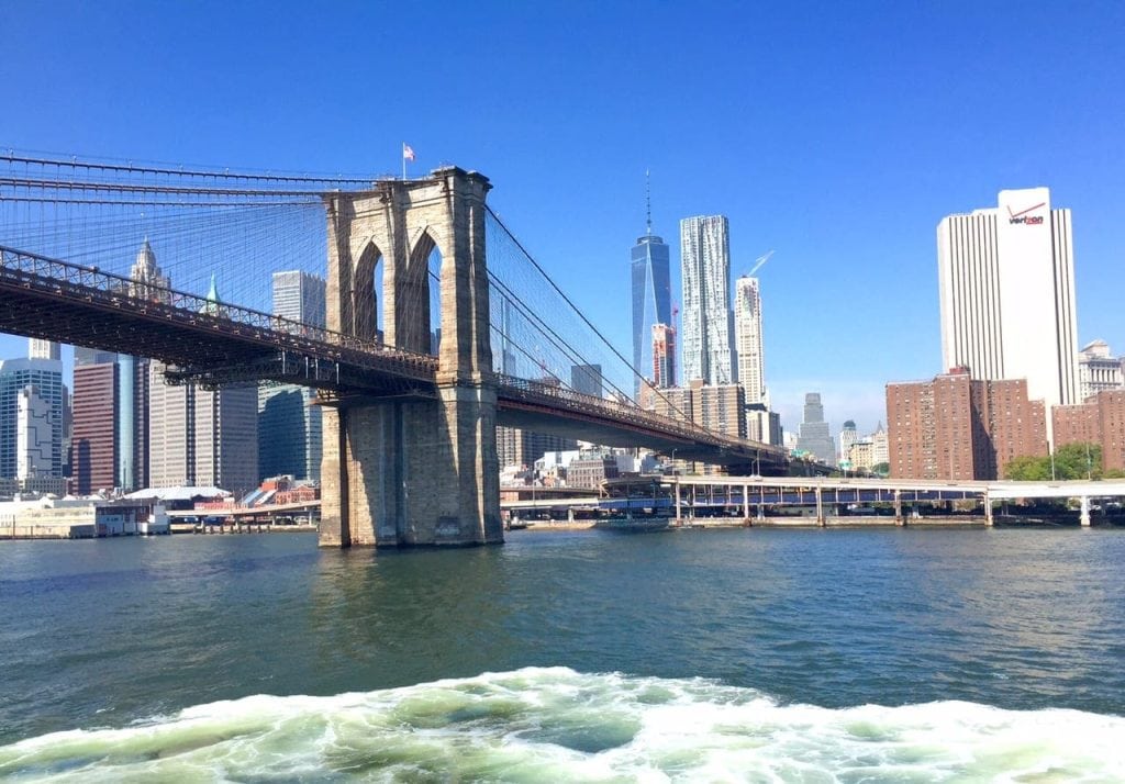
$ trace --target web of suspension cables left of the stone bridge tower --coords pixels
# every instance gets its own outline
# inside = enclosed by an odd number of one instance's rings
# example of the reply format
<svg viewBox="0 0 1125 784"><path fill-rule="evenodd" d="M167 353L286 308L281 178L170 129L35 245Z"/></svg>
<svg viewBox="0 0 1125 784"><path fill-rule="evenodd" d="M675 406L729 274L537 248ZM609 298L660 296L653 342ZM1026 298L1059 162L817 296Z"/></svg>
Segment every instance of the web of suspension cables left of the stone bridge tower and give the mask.
<svg viewBox="0 0 1125 784"><path fill-rule="evenodd" d="M369 178L0 154L0 243L128 274L145 242L173 286L272 309L273 272L324 276L321 193Z"/></svg>

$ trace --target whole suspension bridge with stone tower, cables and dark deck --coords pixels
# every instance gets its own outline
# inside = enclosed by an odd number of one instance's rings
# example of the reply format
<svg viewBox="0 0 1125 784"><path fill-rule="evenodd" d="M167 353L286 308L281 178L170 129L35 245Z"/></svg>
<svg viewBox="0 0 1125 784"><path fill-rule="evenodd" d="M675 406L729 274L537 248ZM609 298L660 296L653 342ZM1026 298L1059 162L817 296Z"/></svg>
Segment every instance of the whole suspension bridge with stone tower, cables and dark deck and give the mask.
<svg viewBox="0 0 1125 784"><path fill-rule="evenodd" d="M645 369L490 189L457 166L363 179L0 155L0 332L158 359L170 384L315 388L323 546L502 541L497 425L785 470L780 448L701 427L659 389L639 405ZM142 241L176 287L129 277ZM268 313L282 269L325 276L325 326ZM222 299L201 294L216 278ZM595 366L600 389L574 388Z"/></svg>

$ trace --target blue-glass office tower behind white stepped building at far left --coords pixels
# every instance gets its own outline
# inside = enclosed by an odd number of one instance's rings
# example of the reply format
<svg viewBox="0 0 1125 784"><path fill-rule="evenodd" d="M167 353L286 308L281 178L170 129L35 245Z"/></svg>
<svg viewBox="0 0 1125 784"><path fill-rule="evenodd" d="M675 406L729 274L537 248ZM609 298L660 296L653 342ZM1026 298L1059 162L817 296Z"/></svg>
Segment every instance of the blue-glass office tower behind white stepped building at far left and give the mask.
<svg viewBox="0 0 1125 784"><path fill-rule="evenodd" d="M62 476L63 363L53 359L10 359L0 362L0 479L18 478L19 395L28 387L50 406L50 476Z"/></svg>

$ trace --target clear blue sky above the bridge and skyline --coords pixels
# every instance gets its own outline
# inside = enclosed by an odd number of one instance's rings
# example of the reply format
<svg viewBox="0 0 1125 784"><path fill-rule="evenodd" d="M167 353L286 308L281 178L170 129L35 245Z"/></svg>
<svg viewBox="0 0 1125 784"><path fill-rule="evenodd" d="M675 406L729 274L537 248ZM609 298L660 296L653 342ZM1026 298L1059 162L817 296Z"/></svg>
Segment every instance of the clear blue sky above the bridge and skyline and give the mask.
<svg viewBox="0 0 1125 784"><path fill-rule="evenodd" d="M0 146L389 173L405 139L488 174L622 346L650 169L674 287L682 217L729 216L736 276L776 251L786 429L819 390L870 430L942 370L935 227L1002 188L1073 209L1079 340L1125 352L1125 3L7 2L0 33Z"/></svg>

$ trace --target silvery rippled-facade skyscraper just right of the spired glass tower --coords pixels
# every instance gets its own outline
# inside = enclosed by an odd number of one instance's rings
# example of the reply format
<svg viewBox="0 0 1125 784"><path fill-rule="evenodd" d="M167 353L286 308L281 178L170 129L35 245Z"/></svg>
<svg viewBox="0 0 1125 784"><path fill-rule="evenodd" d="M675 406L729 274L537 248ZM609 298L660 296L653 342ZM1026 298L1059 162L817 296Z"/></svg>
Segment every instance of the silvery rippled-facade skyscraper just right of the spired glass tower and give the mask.
<svg viewBox="0 0 1125 784"><path fill-rule="evenodd" d="M726 216L680 222L682 384L734 384L730 343L730 240Z"/></svg>

